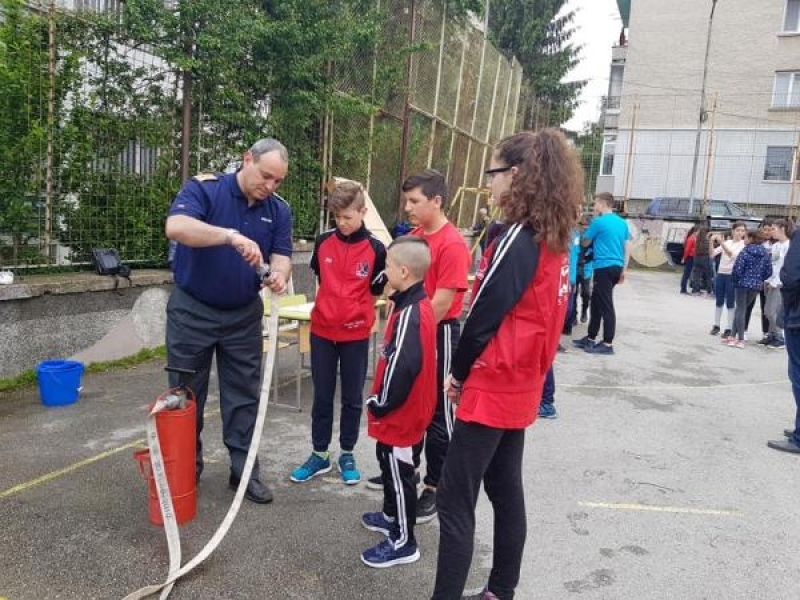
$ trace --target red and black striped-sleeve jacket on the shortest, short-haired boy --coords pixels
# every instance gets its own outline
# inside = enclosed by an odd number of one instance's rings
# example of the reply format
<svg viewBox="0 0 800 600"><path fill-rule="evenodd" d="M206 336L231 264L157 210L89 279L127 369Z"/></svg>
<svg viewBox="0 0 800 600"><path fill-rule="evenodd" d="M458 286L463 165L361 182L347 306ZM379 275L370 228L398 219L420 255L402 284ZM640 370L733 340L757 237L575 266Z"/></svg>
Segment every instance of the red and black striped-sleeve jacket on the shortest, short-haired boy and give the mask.
<svg viewBox="0 0 800 600"><path fill-rule="evenodd" d="M436 318L421 281L391 299L394 312L366 403L367 431L406 448L422 440L436 408Z"/></svg>

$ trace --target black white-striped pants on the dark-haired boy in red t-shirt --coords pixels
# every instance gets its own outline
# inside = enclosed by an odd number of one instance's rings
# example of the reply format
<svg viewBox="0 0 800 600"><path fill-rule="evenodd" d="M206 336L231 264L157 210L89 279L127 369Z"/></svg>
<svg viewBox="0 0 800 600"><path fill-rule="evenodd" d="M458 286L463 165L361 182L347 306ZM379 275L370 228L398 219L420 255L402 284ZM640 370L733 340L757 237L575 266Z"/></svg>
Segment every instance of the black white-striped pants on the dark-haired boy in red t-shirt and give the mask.
<svg viewBox="0 0 800 600"><path fill-rule="evenodd" d="M457 319L439 321L436 326L436 412L425 433L425 463L427 466L424 483L431 487L439 485L442 466L447 456L450 438L453 437L453 403L444 393L444 380L450 374L450 362L458 346L461 324ZM414 447L414 464L419 466L422 446Z"/></svg>

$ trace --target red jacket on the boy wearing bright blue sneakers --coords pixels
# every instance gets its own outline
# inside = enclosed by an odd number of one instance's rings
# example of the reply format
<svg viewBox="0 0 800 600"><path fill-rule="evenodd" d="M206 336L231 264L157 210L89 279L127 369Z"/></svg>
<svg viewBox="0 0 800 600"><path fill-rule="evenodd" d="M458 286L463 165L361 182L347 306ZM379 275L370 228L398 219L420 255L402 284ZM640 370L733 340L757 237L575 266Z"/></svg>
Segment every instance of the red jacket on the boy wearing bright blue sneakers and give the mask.
<svg viewBox="0 0 800 600"><path fill-rule="evenodd" d="M386 248L369 230L349 236L331 229L320 234L311 255L319 290L311 311L311 333L334 342L369 337L375 298L383 292Z"/></svg>

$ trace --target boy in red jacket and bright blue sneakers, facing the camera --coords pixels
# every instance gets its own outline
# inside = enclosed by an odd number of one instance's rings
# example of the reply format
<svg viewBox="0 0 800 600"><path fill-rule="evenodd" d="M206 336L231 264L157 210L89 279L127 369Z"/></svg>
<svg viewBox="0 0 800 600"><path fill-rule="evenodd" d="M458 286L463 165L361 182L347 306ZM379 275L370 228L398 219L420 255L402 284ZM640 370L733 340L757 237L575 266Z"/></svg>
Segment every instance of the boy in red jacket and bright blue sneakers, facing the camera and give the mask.
<svg viewBox="0 0 800 600"><path fill-rule="evenodd" d="M346 485L361 481L353 449L363 411L369 336L375 323L375 296L383 293L386 249L364 226L367 211L363 188L353 181L336 186L328 198L336 228L314 244L311 268L319 290L311 311L311 442L308 460L292 471L295 483L331 470L328 445L333 434L336 373L341 373L339 473Z"/></svg>

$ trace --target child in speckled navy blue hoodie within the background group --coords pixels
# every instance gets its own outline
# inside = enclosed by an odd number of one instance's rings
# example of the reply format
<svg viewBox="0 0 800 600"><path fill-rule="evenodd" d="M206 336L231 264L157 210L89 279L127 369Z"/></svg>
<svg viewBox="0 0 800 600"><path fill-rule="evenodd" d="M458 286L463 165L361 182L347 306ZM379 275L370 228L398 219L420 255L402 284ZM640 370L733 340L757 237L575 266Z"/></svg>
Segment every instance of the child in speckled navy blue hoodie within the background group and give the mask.
<svg viewBox="0 0 800 600"><path fill-rule="evenodd" d="M764 281L772 277L772 259L769 251L761 245L757 231L747 232L747 245L733 264L733 287L736 291L736 312L733 317L733 332L728 340L731 348L744 348L744 322L747 305L764 289Z"/></svg>

